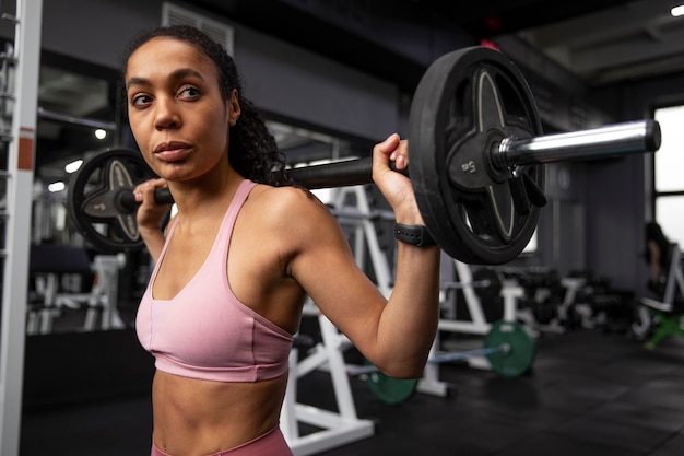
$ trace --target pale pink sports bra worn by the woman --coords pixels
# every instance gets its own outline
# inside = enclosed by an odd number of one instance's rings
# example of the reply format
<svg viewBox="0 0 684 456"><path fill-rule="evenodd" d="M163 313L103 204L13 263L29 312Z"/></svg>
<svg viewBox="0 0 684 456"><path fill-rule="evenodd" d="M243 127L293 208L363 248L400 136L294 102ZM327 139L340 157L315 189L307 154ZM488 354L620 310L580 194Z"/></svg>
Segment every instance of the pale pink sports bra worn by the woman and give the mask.
<svg viewBox="0 0 684 456"><path fill-rule="evenodd" d="M237 214L255 183L244 180L204 264L173 300L155 300L152 285L177 220L172 224L135 318L138 339L157 370L216 382L257 382L287 371L293 336L240 303L227 278Z"/></svg>

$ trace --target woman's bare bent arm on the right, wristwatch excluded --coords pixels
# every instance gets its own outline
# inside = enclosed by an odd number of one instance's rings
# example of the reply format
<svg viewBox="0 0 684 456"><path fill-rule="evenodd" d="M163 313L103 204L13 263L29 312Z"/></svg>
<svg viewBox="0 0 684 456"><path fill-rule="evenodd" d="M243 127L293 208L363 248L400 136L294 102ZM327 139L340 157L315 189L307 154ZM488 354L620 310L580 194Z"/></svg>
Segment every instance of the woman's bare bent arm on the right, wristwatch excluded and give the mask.
<svg viewBox="0 0 684 456"><path fill-rule="evenodd" d="M391 160L397 168L404 168L406 154L406 142L396 135L377 144L373 177L398 223L422 225L411 182L389 167ZM290 238L300 244L291 264L293 276L319 309L387 375L420 376L439 320L440 248L399 242L394 288L386 297L356 266L346 238L329 213L322 217L310 210L288 220L298 221L292 226L298 234Z"/></svg>

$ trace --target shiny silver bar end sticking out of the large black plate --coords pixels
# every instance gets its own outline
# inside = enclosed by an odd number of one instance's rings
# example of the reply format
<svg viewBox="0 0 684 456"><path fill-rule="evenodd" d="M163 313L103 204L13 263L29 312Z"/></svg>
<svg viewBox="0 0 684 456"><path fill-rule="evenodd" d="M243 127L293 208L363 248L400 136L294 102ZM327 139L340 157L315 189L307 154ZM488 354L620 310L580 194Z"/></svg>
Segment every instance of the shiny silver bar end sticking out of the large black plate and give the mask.
<svg viewBox="0 0 684 456"><path fill-rule="evenodd" d="M492 163L507 169L517 165L606 159L656 152L660 143L660 125L646 119L532 138L505 138L492 152Z"/></svg>

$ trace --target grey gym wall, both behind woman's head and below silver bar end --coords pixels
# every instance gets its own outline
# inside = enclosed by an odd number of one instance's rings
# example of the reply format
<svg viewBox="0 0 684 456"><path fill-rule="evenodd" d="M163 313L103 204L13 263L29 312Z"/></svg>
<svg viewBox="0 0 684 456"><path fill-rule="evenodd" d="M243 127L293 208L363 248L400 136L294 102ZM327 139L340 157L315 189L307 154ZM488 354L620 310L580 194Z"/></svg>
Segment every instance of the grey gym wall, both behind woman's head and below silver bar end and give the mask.
<svg viewBox="0 0 684 456"><path fill-rule="evenodd" d="M47 1L43 46L118 69L130 37L141 28L160 24L162 3ZM391 131L406 133L410 94L400 93L392 83L227 19L216 19L235 27L235 57L247 95L262 109L368 140L382 139ZM677 96L680 92L676 84L635 83L600 91L597 96L591 94L591 100L615 121L624 121L647 116L652 100ZM650 198L644 195L645 160L635 155L573 166L571 192L558 197L562 202L556 209L547 208L540 223L543 257L521 261L592 269L613 278L620 288L640 284L646 274L640 258L644 207ZM558 233L565 234L557 238ZM578 254L568 259L559 248Z"/></svg>

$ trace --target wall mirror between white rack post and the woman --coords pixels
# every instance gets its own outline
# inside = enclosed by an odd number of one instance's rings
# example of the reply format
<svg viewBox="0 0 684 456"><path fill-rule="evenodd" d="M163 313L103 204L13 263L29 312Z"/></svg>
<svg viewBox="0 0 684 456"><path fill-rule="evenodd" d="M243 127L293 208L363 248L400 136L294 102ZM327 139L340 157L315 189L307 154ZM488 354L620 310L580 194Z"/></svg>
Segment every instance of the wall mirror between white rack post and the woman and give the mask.
<svg viewBox="0 0 684 456"><path fill-rule="evenodd" d="M132 270L121 256L101 258L67 213L72 173L119 143L117 72L44 52L38 81L26 332L125 327L115 306Z"/></svg>

